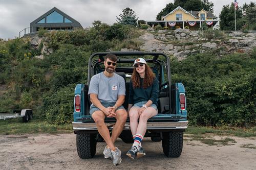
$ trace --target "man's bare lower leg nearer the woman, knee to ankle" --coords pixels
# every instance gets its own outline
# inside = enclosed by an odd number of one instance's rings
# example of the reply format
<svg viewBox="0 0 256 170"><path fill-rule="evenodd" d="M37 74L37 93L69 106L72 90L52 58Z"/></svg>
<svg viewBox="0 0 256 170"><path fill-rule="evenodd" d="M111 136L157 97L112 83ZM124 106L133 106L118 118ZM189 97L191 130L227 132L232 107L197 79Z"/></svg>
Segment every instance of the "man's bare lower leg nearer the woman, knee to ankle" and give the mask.
<svg viewBox="0 0 256 170"><path fill-rule="evenodd" d="M127 119L127 112L124 109L119 109L116 111L116 124L112 130L112 135L111 135L111 139L112 142L114 143L116 141L116 139L118 138L118 136L121 134L121 132L123 131L123 127L124 124L126 122Z"/></svg>

